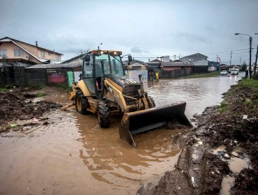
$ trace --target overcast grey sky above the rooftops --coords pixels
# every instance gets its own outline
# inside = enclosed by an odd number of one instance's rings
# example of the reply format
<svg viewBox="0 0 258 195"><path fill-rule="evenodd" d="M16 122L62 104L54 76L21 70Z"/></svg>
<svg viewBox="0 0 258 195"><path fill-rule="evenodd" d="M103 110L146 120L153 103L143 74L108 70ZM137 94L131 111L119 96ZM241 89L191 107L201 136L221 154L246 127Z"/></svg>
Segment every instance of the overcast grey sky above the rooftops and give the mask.
<svg viewBox="0 0 258 195"><path fill-rule="evenodd" d="M255 61L257 0L38 1L0 0L0 38L8 36L54 49L70 59L79 51L117 49L146 61L197 52L216 61L249 62L248 36ZM239 50L239 51L235 51ZM224 53L220 53L224 52Z"/></svg>

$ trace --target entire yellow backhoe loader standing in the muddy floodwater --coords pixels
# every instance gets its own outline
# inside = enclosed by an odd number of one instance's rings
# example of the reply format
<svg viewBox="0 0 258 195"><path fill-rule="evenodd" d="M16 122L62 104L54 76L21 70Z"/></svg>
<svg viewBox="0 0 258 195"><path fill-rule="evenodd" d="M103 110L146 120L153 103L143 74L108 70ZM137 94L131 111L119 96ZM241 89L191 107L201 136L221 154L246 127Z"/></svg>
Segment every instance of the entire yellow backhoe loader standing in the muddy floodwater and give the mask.
<svg viewBox="0 0 258 195"><path fill-rule="evenodd" d="M186 118L185 102L155 108L154 100L139 82L126 77L120 51L93 50L83 57L82 75L68 95L80 114L97 114L100 127L110 125L114 113L123 114L119 135L136 146L132 135L175 121L191 126ZM132 56L128 56L128 63Z"/></svg>

